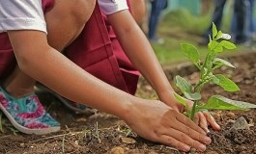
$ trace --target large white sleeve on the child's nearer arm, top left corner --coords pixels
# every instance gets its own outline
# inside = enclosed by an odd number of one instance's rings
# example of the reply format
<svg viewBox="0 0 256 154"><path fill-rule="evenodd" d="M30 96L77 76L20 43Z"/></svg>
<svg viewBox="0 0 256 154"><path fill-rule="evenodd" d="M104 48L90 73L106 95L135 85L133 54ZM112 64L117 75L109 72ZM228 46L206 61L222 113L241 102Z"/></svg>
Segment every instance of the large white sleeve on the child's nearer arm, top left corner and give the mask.
<svg viewBox="0 0 256 154"><path fill-rule="evenodd" d="M46 33L42 0L0 0L0 32L9 30Z"/></svg>

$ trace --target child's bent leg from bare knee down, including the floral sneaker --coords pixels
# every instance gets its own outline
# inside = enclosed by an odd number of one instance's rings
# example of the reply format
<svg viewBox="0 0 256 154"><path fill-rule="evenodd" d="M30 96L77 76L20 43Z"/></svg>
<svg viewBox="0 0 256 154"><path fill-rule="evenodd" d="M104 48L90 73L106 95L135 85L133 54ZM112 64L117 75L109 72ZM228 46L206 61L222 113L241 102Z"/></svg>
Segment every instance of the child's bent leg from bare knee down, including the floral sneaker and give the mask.
<svg viewBox="0 0 256 154"><path fill-rule="evenodd" d="M66 0L65 3L55 0L54 7L45 13L49 45L59 51L69 45L83 29L94 6L93 0ZM60 124L43 109L40 100L34 94L34 84L35 80L16 67L4 83L8 92L0 88L0 110L20 132L56 132L60 129Z"/></svg>

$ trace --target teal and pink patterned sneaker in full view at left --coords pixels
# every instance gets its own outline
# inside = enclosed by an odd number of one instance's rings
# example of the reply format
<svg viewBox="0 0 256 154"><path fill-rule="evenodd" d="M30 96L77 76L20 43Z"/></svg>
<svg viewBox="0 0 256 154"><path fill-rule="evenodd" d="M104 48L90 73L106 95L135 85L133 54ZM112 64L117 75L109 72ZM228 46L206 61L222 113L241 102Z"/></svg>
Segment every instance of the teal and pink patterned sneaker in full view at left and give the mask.
<svg viewBox="0 0 256 154"><path fill-rule="evenodd" d="M22 133L43 135L60 130L60 123L45 112L35 93L16 99L0 87L0 110Z"/></svg>

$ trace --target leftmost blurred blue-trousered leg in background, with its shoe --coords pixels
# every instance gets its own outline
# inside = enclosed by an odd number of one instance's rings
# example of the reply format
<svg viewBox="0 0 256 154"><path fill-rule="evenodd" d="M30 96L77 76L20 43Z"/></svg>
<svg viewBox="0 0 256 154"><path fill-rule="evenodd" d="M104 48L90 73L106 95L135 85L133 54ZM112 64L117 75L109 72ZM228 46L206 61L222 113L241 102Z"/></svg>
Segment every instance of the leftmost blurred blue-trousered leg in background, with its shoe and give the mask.
<svg viewBox="0 0 256 154"><path fill-rule="evenodd" d="M157 39L156 37L156 30L158 26L158 21L161 12L166 7L167 1L166 0L154 0L151 2L151 13L149 18L149 32L148 38L157 43L163 43L162 39Z"/></svg>

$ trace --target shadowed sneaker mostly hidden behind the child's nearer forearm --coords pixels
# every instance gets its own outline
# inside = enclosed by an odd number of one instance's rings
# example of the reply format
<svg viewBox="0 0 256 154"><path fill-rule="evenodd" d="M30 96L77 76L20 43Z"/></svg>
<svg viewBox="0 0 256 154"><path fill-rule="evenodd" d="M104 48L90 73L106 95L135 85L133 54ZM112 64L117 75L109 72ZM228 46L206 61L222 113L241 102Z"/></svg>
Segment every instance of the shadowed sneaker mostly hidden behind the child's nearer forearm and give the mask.
<svg viewBox="0 0 256 154"><path fill-rule="evenodd" d="M75 112L76 114L83 114L83 115L94 115L98 112L98 110L96 109L92 109L86 105L80 104L80 103L76 103L73 102L67 98L64 98L63 96L59 95L58 93L54 92L53 90L49 90L48 88L46 88L45 86L43 86L40 83L36 84L36 90L37 91L45 91L45 92L49 92L52 95L54 95L59 101L61 101L64 105L66 105L69 109L71 109L71 111Z"/></svg>

